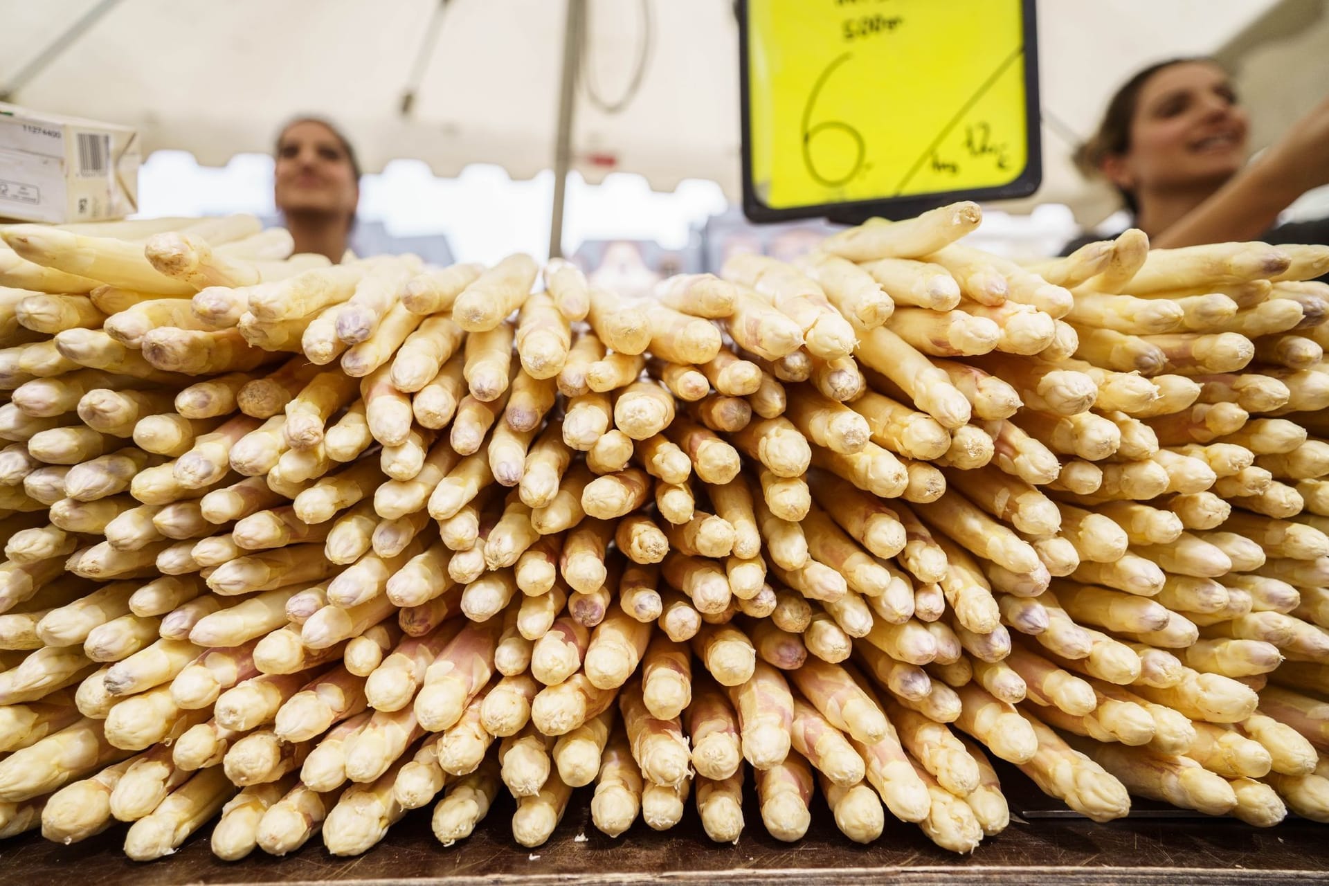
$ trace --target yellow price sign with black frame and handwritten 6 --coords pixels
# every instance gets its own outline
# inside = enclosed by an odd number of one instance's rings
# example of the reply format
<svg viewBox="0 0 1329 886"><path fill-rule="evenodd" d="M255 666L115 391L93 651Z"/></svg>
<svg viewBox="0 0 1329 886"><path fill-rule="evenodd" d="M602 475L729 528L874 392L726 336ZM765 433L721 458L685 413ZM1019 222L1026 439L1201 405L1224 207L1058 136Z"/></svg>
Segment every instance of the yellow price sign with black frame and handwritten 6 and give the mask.
<svg viewBox="0 0 1329 886"><path fill-rule="evenodd" d="M746 0L740 23L750 218L1038 187L1033 0Z"/></svg>

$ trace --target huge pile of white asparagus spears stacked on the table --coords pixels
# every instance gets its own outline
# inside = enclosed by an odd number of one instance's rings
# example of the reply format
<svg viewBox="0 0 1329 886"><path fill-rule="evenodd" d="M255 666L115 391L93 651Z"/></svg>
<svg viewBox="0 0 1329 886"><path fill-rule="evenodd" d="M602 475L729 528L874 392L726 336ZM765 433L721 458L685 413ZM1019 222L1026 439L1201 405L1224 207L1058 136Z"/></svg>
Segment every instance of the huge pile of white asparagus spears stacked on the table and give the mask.
<svg viewBox="0 0 1329 886"><path fill-rule="evenodd" d="M1096 821L1329 821L1329 248L979 218L647 300L0 228L0 836L342 855L508 790L538 846L585 788L793 841L820 789L966 853L987 754Z"/></svg>

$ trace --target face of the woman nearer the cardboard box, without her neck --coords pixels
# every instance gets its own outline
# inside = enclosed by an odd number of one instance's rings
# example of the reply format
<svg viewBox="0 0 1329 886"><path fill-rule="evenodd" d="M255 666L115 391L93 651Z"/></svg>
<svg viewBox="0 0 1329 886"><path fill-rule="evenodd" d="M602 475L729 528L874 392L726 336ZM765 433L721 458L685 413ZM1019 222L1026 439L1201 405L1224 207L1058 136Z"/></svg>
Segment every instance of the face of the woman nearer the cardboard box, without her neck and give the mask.
<svg viewBox="0 0 1329 886"><path fill-rule="evenodd" d="M291 124L276 146L276 207L283 213L352 215L360 198L342 141L314 121Z"/></svg>

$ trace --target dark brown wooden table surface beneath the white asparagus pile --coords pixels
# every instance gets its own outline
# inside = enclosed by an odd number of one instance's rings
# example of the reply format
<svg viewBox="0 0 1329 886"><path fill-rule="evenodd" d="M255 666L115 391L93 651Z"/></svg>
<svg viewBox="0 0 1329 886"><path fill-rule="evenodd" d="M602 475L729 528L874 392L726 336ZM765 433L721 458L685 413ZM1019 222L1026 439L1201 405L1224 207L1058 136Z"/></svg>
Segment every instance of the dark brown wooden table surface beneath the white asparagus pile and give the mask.
<svg viewBox="0 0 1329 886"><path fill-rule="evenodd" d="M1003 781L1014 781L1002 773ZM1013 788L1015 785L1011 785ZM1033 785L1029 785L1033 789ZM1015 793L1015 792L1013 792ZM762 828L748 790L748 818L736 846L706 838L695 808L667 833L641 821L618 840L590 821L591 792L573 794L548 843L526 850L513 842L514 804L502 798L476 833L444 847L429 832L429 809L409 813L364 855L336 858L318 837L275 859L255 850L223 862L207 847L207 830L174 855L136 863L121 853L124 828L73 846L28 834L0 846L11 883L70 882L82 886L167 883L445 882L470 883L1058 883L1237 885L1329 881L1324 828L1289 818L1257 829L1223 818L1132 817L1096 825L1084 818L1017 821L983 841L971 855L938 849L918 828L890 821L870 846L847 841L817 798L808 836L783 843Z"/></svg>

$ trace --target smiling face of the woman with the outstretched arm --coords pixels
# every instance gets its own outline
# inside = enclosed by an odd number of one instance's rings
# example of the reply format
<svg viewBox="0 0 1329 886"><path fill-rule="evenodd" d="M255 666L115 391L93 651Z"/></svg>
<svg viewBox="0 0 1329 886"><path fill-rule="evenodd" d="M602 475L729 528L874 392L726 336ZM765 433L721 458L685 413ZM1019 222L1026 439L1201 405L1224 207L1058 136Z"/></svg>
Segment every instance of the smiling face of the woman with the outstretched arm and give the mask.
<svg viewBox="0 0 1329 886"><path fill-rule="evenodd" d="M1217 65L1187 61L1150 77L1131 120L1130 150L1104 173L1128 191L1217 186L1245 162L1247 114Z"/></svg>

